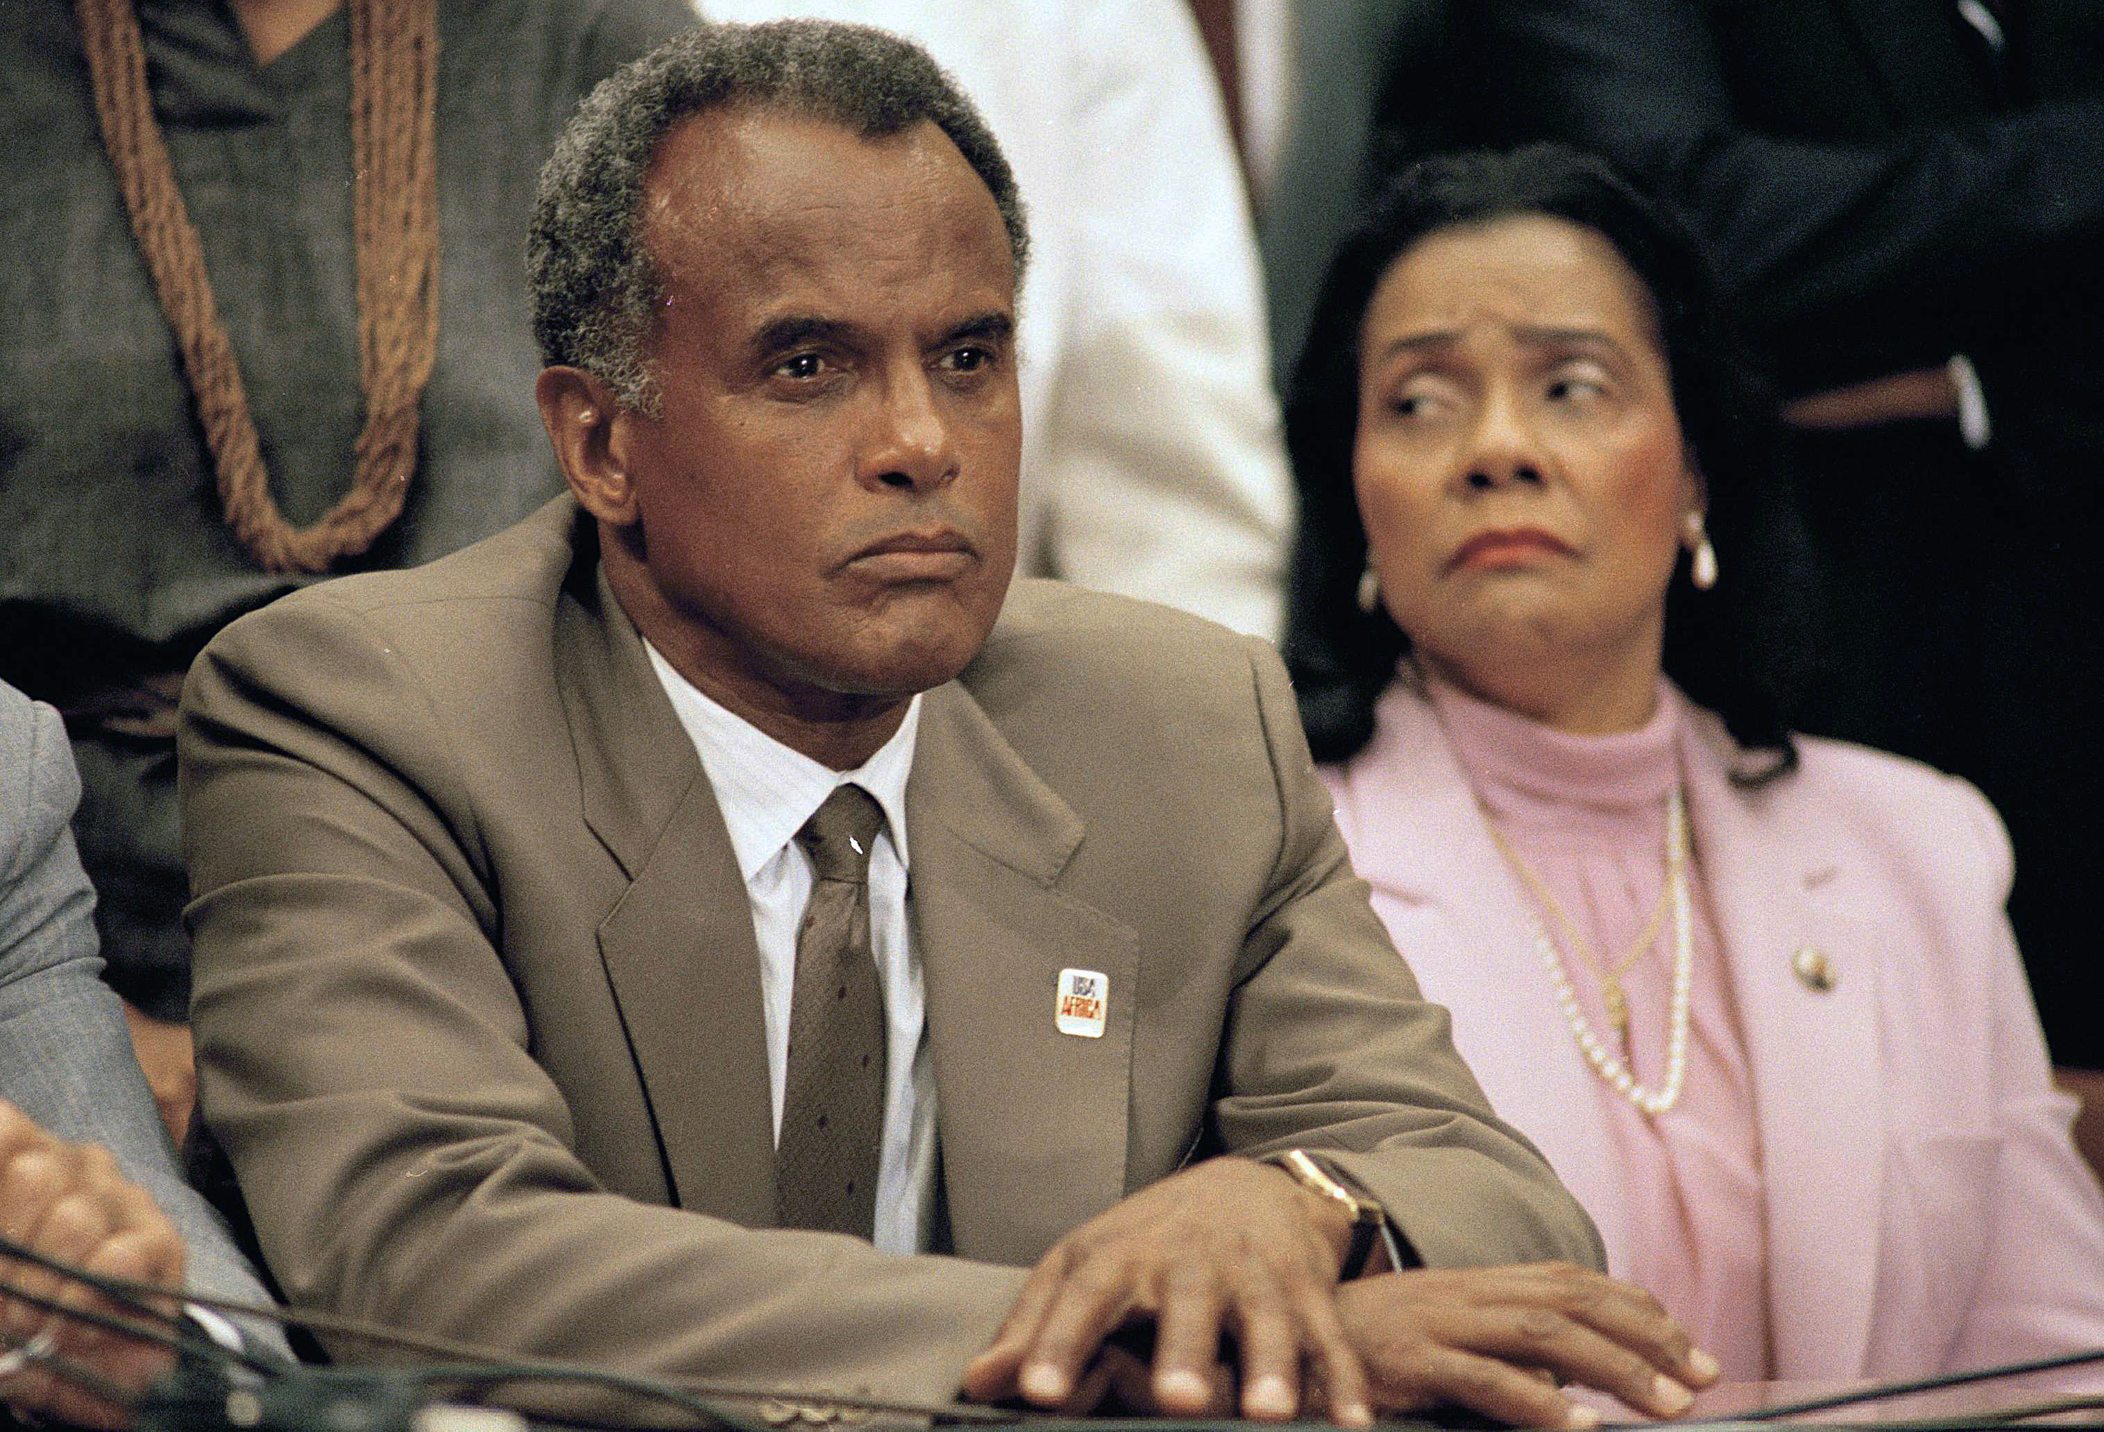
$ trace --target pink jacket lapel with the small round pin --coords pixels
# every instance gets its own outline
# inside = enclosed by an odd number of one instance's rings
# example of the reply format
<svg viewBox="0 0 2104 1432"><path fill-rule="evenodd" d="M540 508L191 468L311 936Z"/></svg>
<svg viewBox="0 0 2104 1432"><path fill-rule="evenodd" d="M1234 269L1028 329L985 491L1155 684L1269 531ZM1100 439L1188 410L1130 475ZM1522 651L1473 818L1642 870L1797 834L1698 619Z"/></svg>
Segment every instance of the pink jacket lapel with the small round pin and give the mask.
<svg viewBox="0 0 2104 1432"><path fill-rule="evenodd" d="M1883 1181L1877 931L1856 914L1830 817L1793 819L1791 779L1729 785L1736 748L1713 718L1683 737L1687 817L1753 1070L1767 1186L1776 1375L1854 1377L1870 1335ZM1801 950L1835 971L1797 973Z"/></svg>

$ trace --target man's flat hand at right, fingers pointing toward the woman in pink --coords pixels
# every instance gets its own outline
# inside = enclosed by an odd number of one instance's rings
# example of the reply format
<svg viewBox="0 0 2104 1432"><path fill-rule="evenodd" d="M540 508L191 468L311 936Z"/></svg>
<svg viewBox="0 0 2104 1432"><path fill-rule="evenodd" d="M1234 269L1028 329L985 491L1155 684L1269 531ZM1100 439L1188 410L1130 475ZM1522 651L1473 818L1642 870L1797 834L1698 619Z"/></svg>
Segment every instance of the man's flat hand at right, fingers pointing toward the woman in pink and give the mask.
<svg viewBox="0 0 2104 1432"><path fill-rule="evenodd" d="M1374 1403L1405 1413L1460 1403L1530 1428L1595 1428L1557 1379L1612 1392L1654 1417L1687 1411L1717 1360L1658 1299L1572 1264L1414 1270L1338 1289Z"/></svg>

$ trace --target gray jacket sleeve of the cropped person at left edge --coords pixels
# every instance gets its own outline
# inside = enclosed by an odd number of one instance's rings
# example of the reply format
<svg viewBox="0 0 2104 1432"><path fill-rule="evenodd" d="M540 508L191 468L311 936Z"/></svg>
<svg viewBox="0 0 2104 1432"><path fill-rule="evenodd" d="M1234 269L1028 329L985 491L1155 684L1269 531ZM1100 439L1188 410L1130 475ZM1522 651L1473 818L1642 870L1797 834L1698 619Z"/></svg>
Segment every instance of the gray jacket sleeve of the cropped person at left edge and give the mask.
<svg viewBox="0 0 2104 1432"><path fill-rule="evenodd" d="M0 687L0 1095L61 1139L103 1143L162 1207L189 1251L189 1289L269 1301L175 1148L101 981L95 893L67 819L80 781L59 714ZM284 1352L242 1325L250 1348Z"/></svg>

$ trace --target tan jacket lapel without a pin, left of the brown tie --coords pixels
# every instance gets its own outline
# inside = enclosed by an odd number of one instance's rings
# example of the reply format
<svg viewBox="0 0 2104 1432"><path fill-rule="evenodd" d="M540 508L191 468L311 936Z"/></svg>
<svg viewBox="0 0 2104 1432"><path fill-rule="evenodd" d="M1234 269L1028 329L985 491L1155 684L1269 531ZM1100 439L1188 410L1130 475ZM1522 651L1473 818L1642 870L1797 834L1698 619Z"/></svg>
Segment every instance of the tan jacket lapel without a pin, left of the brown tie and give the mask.
<svg viewBox="0 0 2104 1432"><path fill-rule="evenodd" d="M555 670L585 823L629 876L600 924L600 956L673 1200L764 1228L774 1114L751 901L694 743L595 573L581 552L555 617Z"/></svg>

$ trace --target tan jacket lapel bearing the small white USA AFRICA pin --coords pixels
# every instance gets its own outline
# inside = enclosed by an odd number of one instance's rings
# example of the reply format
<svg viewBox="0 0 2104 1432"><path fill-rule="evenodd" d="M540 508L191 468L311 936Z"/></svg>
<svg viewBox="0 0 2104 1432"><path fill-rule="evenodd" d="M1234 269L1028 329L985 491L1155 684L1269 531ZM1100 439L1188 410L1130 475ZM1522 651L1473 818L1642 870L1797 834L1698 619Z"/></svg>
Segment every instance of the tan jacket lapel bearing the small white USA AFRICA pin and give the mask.
<svg viewBox="0 0 2104 1432"><path fill-rule="evenodd" d="M955 682L922 703L907 830L953 1247L1033 1264L1126 1192L1136 935L1056 889L1081 821ZM1054 1028L1063 969L1107 977L1100 1038Z"/></svg>

